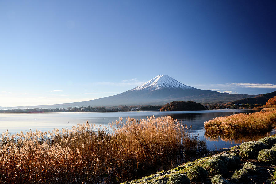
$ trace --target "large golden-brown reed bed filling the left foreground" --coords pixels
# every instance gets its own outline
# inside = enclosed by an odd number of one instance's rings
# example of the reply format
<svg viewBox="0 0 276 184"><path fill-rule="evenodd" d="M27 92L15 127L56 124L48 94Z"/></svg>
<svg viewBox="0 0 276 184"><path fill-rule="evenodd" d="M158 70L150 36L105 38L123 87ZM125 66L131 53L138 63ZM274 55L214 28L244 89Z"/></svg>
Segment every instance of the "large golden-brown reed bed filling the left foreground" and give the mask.
<svg viewBox="0 0 276 184"><path fill-rule="evenodd" d="M52 132L3 134L0 183L118 183L167 169L206 151L172 117L86 124Z"/></svg>

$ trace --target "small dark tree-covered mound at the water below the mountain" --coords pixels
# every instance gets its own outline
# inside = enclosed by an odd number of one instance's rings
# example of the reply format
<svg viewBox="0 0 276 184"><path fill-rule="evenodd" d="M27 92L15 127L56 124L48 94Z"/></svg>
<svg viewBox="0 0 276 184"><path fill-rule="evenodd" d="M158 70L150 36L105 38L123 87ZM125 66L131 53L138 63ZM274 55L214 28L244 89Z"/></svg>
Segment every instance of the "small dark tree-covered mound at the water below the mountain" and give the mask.
<svg viewBox="0 0 276 184"><path fill-rule="evenodd" d="M207 110L201 103L194 101L172 101L161 107L160 111Z"/></svg>

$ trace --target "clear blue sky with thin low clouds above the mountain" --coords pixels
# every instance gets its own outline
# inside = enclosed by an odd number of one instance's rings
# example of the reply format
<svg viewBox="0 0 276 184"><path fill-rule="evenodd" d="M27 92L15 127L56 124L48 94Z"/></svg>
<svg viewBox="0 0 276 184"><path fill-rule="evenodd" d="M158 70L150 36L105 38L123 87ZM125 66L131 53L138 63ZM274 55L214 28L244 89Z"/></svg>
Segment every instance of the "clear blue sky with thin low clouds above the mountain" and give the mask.
<svg viewBox="0 0 276 184"><path fill-rule="evenodd" d="M276 90L275 1L1 1L0 106L91 100L166 74Z"/></svg>

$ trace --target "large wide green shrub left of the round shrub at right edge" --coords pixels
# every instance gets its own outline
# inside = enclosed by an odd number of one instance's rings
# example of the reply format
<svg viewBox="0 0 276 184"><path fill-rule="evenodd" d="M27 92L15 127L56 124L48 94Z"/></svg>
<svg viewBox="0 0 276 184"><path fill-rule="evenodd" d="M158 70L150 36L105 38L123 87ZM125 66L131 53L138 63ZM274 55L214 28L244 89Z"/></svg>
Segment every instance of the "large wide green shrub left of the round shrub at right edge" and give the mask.
<svg viewBox="0 0 276 184"><path fill-rule="evenodd" d="M262 142L258 142L255 140L245 142L240 145L239 155L242 158L248 158L248 159L257 158L259 151L261 151L262 149L266 149L266 145L263 144Z"/></svg>

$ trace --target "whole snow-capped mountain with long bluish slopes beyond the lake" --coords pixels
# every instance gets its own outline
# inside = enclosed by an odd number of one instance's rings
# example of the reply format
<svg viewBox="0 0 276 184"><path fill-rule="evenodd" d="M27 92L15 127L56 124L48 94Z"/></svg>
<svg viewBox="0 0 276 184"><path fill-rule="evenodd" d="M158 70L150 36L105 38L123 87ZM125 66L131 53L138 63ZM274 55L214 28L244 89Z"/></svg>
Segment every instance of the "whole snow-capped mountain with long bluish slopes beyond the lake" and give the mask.
<svg viewBox="0 0 276 184"><path fill-rule="evenodd" d="M67 108L87 106L119 106L119 105L165 105L171 101L192 100L199 103L227 103L243 98L251 98L257 95L219 93L217 91L200 90L186 86L177 80L167 76L158 75L148 82L109 97L95 100L29 107L11 108ZM9 107L10 108L10 107Z"/></svg>

